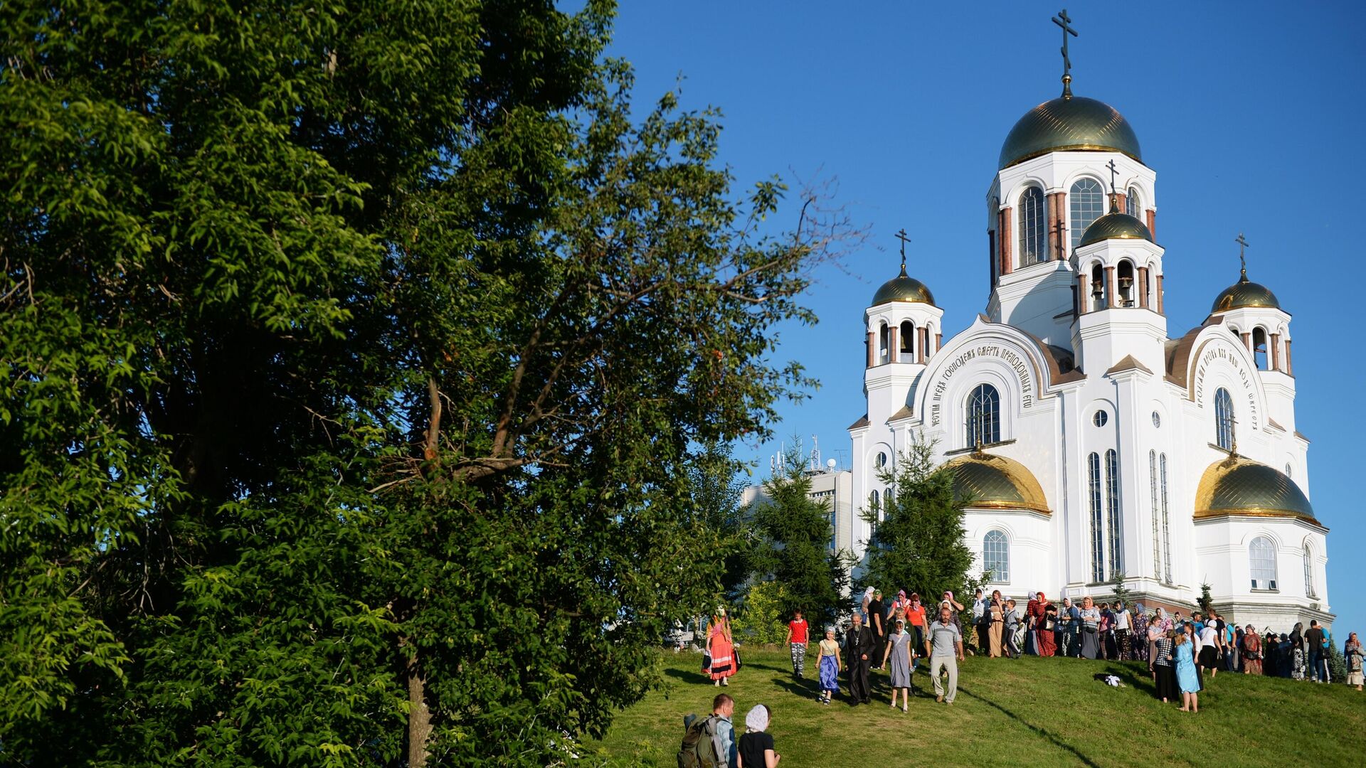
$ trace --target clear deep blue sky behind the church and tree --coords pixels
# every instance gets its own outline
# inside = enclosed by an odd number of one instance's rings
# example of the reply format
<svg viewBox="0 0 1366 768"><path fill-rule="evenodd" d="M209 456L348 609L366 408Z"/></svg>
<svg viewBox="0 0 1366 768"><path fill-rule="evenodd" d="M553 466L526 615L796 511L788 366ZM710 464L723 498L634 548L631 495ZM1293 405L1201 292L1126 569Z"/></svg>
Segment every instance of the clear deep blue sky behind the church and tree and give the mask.
<svg viewBox="0 0 1366 768"><path fill-rule="evenodd" d="M626 3L612 55L632 61L643 105L679 75L683 105L724 112L736 189L770 174L835 176L872 239L847 272L818 273L816 327L784 327L784 359L821 387L784 404L779 436L848 462L863 415L862 312L910 273L944 307L945 339L986 307L985 194L1011 126L1059 96L1057 3ZM1292 317L1298 428L1313 441L1309 488L1332 530L1333 640L1366 631L1362 541L1366 314L1359 242L1366 178L1366 5L1361 3L1070 3L1072 90L1132 124L1157 171L1172 338L1249 276ZM766 474L772 445L742 447ZM843 451L840 454L839 451ZM1299 480L1299 478L1296 478ZM1279 563L1299 578L1299 563Z"/></svg>

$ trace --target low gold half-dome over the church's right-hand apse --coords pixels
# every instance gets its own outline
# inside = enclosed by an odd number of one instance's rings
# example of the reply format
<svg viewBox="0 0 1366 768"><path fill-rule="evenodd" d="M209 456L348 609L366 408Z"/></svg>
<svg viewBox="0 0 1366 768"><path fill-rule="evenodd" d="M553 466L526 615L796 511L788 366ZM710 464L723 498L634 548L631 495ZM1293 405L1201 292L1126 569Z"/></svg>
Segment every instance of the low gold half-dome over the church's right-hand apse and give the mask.
<svg viewBox="0 0 1366 768"><path fill-rule="evenodd" d="M1232 455L1209 465L1195 489L1197 519L1223 515L1294 517L1314 521L1314 507L1285 473Z"/></svg>

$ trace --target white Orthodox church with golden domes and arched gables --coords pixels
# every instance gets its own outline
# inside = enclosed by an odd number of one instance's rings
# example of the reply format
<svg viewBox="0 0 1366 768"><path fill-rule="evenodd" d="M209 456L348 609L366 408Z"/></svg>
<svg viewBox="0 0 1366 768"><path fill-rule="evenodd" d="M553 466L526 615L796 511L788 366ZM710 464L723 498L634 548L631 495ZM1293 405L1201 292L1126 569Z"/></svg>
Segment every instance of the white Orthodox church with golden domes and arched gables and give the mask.
<svg viewBox="0 0 1366 768"><path fill-rule="evenodd" d="M1168 328L1157 174L1130 123L1070 79L1001 148L986 312L945 338L904 258L863 312L851 495L878 507L887 470L929 441L1005 594L1101 597L1121 578L1188 611L1208 584L1240 623L1330 623L1291 316L1244 266L1201 325ZM858 558L874 526L852 521Z"/></svg>

